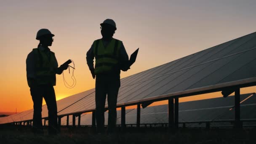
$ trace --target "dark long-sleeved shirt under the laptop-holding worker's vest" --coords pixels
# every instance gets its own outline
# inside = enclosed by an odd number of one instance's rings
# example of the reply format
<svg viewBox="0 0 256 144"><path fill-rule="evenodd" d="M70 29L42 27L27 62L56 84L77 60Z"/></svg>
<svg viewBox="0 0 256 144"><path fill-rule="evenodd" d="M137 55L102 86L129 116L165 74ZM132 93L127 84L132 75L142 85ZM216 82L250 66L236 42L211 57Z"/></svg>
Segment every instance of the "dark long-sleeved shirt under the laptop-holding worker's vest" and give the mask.
<svg viewBox="0 0 256 144"><path fill-rule="evenodd" d="M103 42L104 47L106 47L110 41L102 40L102 42ZM88 67L90 70L94 69L93 59L94 59L95 54L93 52L93 47L94 47L94 45L92 44L91 48L86 53L86 61L87 61L87 64L88 64ZM128 57L127 52L125 51L125 47L124 47L123 43L121 43L118 61L120 61L121 63L129 61L129 57ZM122 70L122 68L121 68L121 70ZM120 74L120 69L119 69L118 73Z"/></svg>

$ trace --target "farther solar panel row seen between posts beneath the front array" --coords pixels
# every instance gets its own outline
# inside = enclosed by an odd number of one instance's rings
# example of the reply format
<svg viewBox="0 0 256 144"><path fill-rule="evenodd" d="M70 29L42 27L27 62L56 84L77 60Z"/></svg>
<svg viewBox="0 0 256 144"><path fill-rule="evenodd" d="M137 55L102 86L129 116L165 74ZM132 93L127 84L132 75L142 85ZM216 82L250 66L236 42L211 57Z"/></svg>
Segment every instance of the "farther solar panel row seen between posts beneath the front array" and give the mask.
<svg viewBox="0 0 256 144"><path fill-rule="evenodd" d="M248 99L247 99L248 98ZM245 101L244 101L245 100ZM219 97L197 101L187 101L179 103L179 122L195 121L218 121L234 120L234 96L227 98ZM256 120L256 94L247 93L240 97L241 119ZM232 108L232 109L231 109ZM231 110L230 110L231 109ZM125 123L136 124L137 109L126 109ZM105 112L105 125L107 125L108 112ZM76 123L78 117L76 118ZM162 124L168 123L168 105L159 105L141 108L141 124ZM66 118L61 119L61 124L66 125ZM121 124L121 111L117 111L117 125ZM219 123L216 123L219 124ZM229 124L229 123L224 123ZM223 125L224 125L223 124ZM72 125L72 117L69 117L69 125ZM92 113L81 115L81 125L92 125ZM198 123L187 126L199 126ZM205 126L204 123L201 126Z"/></svg>

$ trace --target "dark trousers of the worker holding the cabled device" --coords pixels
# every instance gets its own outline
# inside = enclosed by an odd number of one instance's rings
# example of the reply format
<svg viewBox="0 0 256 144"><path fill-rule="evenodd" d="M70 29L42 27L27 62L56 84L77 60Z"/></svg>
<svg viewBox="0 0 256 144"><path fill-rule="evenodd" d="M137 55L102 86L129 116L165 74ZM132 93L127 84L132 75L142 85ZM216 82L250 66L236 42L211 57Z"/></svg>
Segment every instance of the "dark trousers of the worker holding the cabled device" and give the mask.
<svg viewBox="0 0 256 144"><path fill-rule="evenodd" d="M45 99L48 108L49 133L57 132L57 104L55 91L52 85L37 85L30 88L34 103L33 129L42 129L42 103Z"/></svg>

